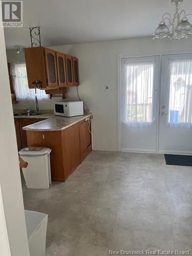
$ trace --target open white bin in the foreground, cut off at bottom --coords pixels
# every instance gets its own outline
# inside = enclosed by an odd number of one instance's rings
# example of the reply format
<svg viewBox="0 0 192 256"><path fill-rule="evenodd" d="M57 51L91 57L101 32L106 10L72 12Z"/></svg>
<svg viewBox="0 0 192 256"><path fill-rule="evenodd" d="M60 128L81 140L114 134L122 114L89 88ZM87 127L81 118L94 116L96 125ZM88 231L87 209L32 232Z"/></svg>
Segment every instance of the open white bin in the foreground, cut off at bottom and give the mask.
<svg viewBox="0 0 192 256"><path fill-rule="evenodd" d="M45 256L48 215L25 210L30 256Z"/></svg>

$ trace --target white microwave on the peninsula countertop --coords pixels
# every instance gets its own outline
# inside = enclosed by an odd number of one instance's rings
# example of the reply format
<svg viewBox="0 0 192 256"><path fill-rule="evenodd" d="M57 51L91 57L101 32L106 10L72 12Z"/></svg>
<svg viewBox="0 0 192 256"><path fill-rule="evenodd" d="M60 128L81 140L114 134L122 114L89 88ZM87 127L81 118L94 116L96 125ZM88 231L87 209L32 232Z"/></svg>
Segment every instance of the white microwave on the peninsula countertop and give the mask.
<svg viewBox="0 0 192 256"><path fill-rule="evenodd" d="M57 116L81 116L83 115L83 101L56 101L54 114Z"/></svg>

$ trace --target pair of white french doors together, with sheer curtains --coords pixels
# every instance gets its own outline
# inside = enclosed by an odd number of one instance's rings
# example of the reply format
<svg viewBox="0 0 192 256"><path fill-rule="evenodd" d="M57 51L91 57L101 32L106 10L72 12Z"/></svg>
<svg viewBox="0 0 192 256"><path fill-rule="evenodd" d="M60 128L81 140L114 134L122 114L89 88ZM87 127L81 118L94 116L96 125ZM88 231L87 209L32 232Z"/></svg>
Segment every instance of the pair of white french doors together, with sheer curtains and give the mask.
<svg viewBox="0 0 192 256"><path fill-rule="evenodd" d="M191 155L192 54L122 58L121 67L121 151Z"/></svg>

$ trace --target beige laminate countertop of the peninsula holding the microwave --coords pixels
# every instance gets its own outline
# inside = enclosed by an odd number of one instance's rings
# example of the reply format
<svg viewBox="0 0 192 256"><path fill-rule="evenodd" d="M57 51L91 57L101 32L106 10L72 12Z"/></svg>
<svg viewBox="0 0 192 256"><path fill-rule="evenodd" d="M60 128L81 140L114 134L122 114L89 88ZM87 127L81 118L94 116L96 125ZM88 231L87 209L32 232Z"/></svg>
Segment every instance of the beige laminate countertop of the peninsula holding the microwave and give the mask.
<svg viewBox="0 0 192 256"><path fill-rule="evenodd" d="M61 117L54 116L47 120L40 121L38 123L33 123L23 127L26 131L62 131L70 127L71 125L78 123L88 117L92 116L92 113L74 116L74 117ZM36 117L35 117L36 118Z"/></svg>

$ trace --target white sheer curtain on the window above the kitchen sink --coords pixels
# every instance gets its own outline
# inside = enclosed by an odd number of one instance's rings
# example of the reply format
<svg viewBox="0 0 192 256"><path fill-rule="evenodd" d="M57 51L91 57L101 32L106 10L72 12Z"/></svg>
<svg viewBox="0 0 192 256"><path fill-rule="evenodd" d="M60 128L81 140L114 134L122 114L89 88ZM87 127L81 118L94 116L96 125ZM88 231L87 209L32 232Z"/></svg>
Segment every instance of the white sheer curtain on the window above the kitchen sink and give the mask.
<svg viewBox="0 0 192 256"><path fill-rule="evenodd" d="M28 88L27 70L25 63L11 63L11 74L13 77L13 87L17 101L35 100L35 89ZM39 101L49 100L49 95L45 90L37 90Z"/></svg>

